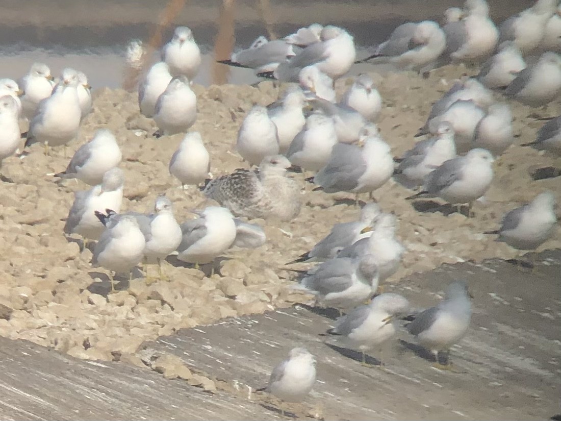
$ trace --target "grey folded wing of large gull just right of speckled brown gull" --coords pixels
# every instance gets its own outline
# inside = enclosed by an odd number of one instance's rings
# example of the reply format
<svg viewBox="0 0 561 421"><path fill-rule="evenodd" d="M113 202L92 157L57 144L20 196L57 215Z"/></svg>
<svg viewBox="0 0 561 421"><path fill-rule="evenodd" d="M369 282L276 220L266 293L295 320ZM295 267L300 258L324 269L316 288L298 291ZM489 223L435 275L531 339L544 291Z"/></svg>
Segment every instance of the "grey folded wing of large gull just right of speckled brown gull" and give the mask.
<svg viewBox="0 0 561 421"><path fill-rule="evenodd" d="M358 179L366 171L361 149L354 145L334 145L327 165L314 176L314 182L326 193L349 191L357 186Z"/></svg>

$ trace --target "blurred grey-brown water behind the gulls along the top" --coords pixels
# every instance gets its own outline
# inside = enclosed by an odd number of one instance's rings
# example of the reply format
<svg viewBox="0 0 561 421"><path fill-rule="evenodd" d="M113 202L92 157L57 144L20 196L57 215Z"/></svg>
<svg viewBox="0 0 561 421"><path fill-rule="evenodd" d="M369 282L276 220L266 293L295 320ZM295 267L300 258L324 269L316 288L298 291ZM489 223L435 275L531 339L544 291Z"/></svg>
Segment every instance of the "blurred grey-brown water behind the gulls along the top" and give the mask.
<svg viewBox="0 0 561 421"><path fill-rule="evenodd" d="M182 0L171 0L179 6ZM0 76L18 79L31 63L47 63L53 74L70 66L84 71L94 87L117 88L125 74L124 52L131 39L145 42L157 29L166 2L153 0L2 0L0 15ZM175 25L189 26L204 53L196 83L254 83L251 70L215 65L233 49L245 48L258 35L292 33L312 22L343 26L355 36L360 52L383 41L408 20L440 21L454 0L315 1L198 0L186 1L162 31L171 37ZM232 4L232 13L224 6ZM260 5L269 3L265 13ZM500 22L530 6L528 0L490 0L491 15ZM222 10L222 11L221 11ZM220 21L220 25L219 22ZM269 22L269 25L265 24ZM219 28L232 26L232 34ZM233 35L233 36L232 36ZM214 52L217 51L217 54Z"/></svg>

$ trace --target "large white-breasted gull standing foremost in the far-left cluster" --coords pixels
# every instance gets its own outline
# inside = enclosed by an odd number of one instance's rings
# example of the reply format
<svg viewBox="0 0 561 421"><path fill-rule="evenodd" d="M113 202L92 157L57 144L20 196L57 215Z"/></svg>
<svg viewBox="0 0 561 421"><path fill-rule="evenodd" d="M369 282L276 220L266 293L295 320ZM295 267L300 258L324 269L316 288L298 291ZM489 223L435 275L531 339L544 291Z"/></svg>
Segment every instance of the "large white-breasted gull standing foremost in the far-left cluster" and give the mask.
<svg viewBox="0 0 561 421"><path fill-rule="evenodd" d="M82 112L78 102L78 73L71 68L62 71L61 81L53 94L43 99L29 123L25 146L43 143L47 147L66 145L76 138Z"/></svg>

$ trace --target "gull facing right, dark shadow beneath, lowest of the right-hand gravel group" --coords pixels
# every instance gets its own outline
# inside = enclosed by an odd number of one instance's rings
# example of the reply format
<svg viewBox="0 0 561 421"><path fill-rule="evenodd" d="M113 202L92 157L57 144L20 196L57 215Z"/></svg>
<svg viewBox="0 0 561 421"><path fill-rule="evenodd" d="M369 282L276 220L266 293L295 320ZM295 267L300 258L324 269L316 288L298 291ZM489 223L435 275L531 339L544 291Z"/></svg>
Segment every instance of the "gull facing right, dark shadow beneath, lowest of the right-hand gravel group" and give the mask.
<svg viewBox="0 0 561 421"><path fill-rule="evenodd" d="M486 149L471 149L463 157L445 161L426 176L423 190L408 197L439 197L452 205L468 204L468 216L474 200L489 189L493 181L493 154Z"/></svg>

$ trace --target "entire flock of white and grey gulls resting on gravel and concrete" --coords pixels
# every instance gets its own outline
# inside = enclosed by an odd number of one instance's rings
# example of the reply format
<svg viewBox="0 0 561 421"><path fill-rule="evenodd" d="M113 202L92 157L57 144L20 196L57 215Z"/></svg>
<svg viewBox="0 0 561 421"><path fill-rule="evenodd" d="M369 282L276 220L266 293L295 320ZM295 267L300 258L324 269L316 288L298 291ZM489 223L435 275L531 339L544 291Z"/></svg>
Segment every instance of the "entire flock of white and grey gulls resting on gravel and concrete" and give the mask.
<svg viewBox="0 0 561 421"><path fill-rule="evenodd" d="M95 242L92 266L132 277L143 265L147 282L161 282L167 279L163 264L170 255L199 268L232 246L264 244L262 228L247 219L262 218L274 225L297 217L304 186L293 179L294 171L309 175L306 181L315 190L355 195L355 203L367 194L369 203L357 221L337 223L311 250L287 263L317 262L295 271L300 276L292 288L310 292L317 305L341 312L329 333L360 350L366 363L365 353L396 336L398 321L412 312L401 295L376 295L406 253L396 235L398 216L380 209L376 190L394 179L411 189L407 199L439 198L459 211L467 204L466 216L477 217L472 207L493 184L494 162L515 147L508 102L542 107L561 94L561 56L555 52L561 47L557 3L538 0L497 27L484 0L467 0L462 9L446 11L444 26L407 22L364 58L357 57L353 36L333 25L312 24L278 40L260 36L220 62L289 86L277 102L254 106L241 123L232 148L248 168L217 177L209 175L204 139L189 131L197 118L191 81L199 71L201 53L192 31L180 26L139 84L139 111L153 118L156 138L185 134L169 157L169 173L182 188L197 186L215 204L194 209L196 218L182 223L165 194L155 200L153 213L122 213L122 152L112 132L99 129L76 151L66 170L56 174L90 186L76 191L64 232L80 236L84 248ZM530 61L532 56L539 58ZM369 75L356 77L336 100L334 81L358 62L390 63L421 73L463 63L480 72L458 81L434 104L417 134L426 138L395 158L376 125L383 99ZM503 95L500 102L495 101L497 95ZM45 154L49 148L65 148L76 139L92 104L86 75L71 68L55 80L47 65L35 63L17 83L0 79L0 163L19 153L21 137L26 139L22 158L40 153L35 143ZM29 121L24 134L20 120ZM523 147L561 156L561 116L546 122L535 141ZM550 191L537 193L531 203L508 212L497 230L485 234L521 250L536 249L548 240L557 225L555 198ZM148 266L154 264L158 274L148 276ZM468 330L466 283L451 280L440 304L411 317L408 332L435 354L438 367L449 368L449 358L440 364L439 356L449 353ZM297 347L273 370L266 390L283 401L300 401L315 379L314 356Z"/></svg>

